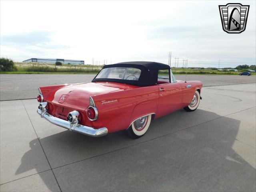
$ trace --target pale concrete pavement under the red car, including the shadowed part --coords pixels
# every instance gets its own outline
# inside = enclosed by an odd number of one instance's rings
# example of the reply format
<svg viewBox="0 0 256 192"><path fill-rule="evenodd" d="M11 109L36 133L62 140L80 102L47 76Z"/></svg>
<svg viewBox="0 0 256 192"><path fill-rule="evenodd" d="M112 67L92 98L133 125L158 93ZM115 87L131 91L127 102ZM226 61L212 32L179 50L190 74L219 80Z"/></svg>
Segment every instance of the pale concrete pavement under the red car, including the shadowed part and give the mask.
<svg viewBox="0 0 256 192"><path fill-rule="evenodd" d="M256 84L204 87L199 108L138 140L54 126L36 100L0 102L0 190L255 191Z"/></svg>

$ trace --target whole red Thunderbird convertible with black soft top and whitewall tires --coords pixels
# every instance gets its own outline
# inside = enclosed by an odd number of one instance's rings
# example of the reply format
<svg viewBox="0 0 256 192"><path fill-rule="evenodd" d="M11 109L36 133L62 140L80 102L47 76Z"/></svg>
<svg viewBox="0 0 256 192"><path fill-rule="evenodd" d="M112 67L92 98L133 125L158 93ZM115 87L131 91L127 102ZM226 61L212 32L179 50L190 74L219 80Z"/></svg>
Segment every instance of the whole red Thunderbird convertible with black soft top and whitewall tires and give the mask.
<svg viewBox="0 0 256 192"><path fill-rule="evenodd" d="M177 81L157 62L105 65L90 83L40 87L38 114L52 124L88 136L126 130L143 136L150 122L199 105L202 82Z"/></svg>

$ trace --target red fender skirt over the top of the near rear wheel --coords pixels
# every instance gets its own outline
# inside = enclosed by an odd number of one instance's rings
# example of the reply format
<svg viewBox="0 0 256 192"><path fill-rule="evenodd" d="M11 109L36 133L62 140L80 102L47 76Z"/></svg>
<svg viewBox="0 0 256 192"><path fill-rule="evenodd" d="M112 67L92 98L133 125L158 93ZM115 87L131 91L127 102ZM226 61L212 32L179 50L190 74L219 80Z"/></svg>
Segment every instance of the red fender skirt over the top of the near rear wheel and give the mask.
<svg viewBox="0 0 256 192"><path fill-rule="evenodd" d="M130 118L129 125L132 124L136 119L149 115L156 114L157 104L155 101L146 101L140 104L137 104L132 111L132 116ZM130 127L130 126L129 126Z"/></svg>

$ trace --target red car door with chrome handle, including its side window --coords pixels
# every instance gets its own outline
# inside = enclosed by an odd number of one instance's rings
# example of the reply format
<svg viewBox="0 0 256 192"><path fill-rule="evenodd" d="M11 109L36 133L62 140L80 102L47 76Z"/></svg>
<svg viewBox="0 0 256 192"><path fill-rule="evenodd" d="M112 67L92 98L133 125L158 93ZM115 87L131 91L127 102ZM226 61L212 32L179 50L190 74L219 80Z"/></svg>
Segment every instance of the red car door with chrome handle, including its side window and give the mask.
<svg viewBox="0 0 256 192"><path fill-rule="evenodd" d="M158 72L159 79L165 78L169 80L167 83L157 85L159 94L158 116L164 116L182 108L182 87L178 82L171 82L170 70L167 69L167 71L159 70Z"/></svg>

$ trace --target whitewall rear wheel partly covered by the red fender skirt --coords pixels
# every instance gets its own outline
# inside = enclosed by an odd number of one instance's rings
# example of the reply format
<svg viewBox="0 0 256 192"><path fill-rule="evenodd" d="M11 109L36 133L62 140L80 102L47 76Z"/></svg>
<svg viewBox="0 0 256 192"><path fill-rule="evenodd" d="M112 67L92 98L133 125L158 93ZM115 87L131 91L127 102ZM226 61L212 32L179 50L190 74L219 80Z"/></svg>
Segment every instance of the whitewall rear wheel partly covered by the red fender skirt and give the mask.
<svg viewBox="0 0 256 192"><path fill-rule="evenodd" d="M151 115L147 115L136 119L132 125L126 130L128 136L133 139L138 139L147 132L151 122Z"/></svg>

